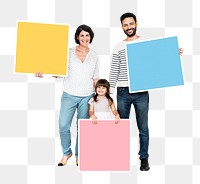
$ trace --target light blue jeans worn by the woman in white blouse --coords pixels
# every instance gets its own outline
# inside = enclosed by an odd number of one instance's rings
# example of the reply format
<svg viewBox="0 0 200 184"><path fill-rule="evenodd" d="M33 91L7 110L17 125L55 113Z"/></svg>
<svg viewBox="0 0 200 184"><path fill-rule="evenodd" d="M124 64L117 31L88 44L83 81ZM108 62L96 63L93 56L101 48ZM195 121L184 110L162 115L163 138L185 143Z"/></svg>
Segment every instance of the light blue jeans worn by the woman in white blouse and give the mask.
<svg viewBox="0 0 200 184"><path fill-rule="evenodd" d="M89 118L89 104L88 101L93 95L86 97L72 96L63 92L61 98L61 108L59 117L59 131L63 155L67 156L72 153L71 150L71 123L74 113L77 109L77 136L75 157L78 157L78 119Z"/></svg>

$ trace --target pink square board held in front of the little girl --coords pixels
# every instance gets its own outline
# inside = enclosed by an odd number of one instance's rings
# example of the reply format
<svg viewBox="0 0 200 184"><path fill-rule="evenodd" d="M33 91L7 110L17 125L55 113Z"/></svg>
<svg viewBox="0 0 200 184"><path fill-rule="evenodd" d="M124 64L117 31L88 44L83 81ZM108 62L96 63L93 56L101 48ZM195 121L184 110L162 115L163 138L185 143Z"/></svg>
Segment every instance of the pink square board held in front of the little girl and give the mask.
<svg viewBox="0 0 200 184"><path fill-rule="evenodd" d="M80 171L130 171L130 120L79 120Z"/></svg>

